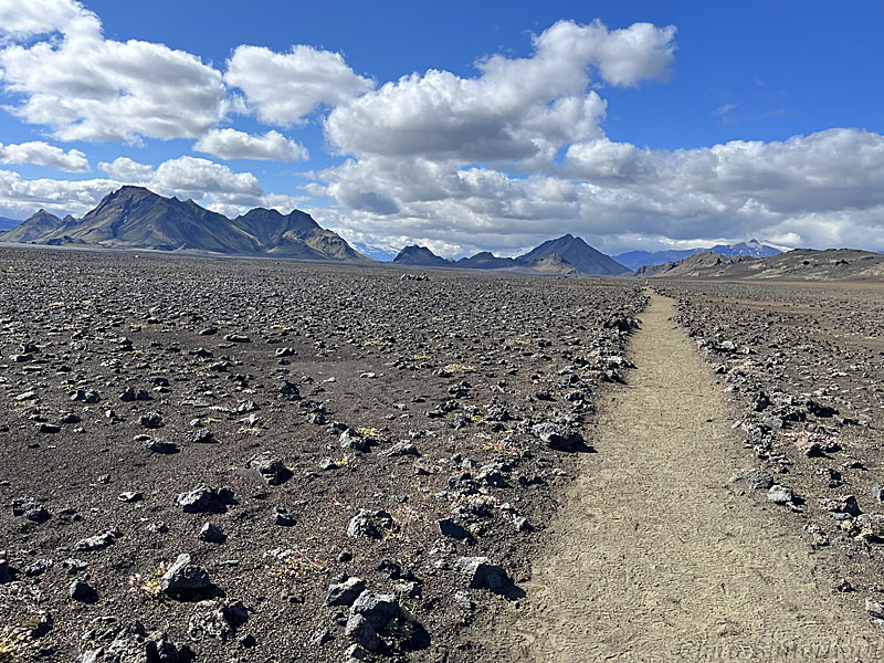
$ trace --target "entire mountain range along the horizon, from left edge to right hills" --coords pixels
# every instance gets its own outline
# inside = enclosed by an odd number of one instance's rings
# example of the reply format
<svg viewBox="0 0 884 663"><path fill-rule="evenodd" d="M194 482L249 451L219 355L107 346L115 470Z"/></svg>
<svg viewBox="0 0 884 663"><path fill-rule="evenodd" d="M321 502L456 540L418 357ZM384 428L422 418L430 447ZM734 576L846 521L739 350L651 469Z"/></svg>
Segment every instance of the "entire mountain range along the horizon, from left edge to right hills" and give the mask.
<svg viewBox="0 0 884 663"><path fill-rule="evenodd" d="M377 264L390 249L368 256L322 228L309 214L253 209L235 219L192 200L158 196L144 187L123 187L102 199L82 219L63 219L45 210L19 222L0 218L0 241L97 249L136 249ZM665 261L666 257L675 260ZM780 252L756 240L709 250L632 251L612 259L566 234L516 257L484 251L460 260L443 259L425 246L402 249L393 264L403 266L494 270L526 274L591 274L639 277L842 280L884 276L884 255L869 251L809 249ZM633 265L636 265L633 267Z"/></svg>

